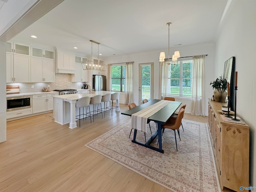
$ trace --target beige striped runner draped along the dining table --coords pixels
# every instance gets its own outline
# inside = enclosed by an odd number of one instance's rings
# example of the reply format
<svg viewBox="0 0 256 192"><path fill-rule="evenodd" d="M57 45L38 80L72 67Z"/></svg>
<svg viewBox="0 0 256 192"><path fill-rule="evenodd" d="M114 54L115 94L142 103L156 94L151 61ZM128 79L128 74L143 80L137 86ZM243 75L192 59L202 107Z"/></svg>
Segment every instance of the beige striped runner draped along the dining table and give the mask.
<svg viewBox="0 0 256 192"><path fill-rule="evenodd" d="M132 114L132 129L140 130L142 132L147 133L147 120L150 116L158 112L160 109L162 109L164 106L168 105L172 101L168 100L161 100L151 106L148 106L147 108L140 110L137 113Z"/></svg>

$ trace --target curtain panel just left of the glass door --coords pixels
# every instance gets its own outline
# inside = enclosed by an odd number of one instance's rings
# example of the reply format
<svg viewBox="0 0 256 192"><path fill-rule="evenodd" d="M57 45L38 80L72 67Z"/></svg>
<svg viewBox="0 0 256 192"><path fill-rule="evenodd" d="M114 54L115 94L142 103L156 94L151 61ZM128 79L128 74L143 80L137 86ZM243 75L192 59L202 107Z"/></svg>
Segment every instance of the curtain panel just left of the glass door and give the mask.
<svg viewBox="0 0 256 192"><path fill-rule="evenodd" d="M125 104L133 102L133 90L132 90L132 79L133 79L133 64L134 62L126 62L126 74L125 74Z"/></svg>

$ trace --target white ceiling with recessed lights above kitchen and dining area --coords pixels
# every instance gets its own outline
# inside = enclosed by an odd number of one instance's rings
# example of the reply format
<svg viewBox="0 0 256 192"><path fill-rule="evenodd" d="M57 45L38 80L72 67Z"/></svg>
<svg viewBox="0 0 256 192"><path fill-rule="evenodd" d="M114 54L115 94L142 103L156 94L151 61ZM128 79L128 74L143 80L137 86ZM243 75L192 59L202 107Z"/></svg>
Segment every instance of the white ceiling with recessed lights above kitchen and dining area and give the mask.
<svg viewBox="0 0 256 192"><path fill-rule="evenodd" d="M12 41L102 57L212 43L228 0L64 0ZM31 35L37 38L31 38ZM181 44L181 45L180 45ZM74 49L77 47L78 49ZM98 54L93 44L93 54Z"/></svg>

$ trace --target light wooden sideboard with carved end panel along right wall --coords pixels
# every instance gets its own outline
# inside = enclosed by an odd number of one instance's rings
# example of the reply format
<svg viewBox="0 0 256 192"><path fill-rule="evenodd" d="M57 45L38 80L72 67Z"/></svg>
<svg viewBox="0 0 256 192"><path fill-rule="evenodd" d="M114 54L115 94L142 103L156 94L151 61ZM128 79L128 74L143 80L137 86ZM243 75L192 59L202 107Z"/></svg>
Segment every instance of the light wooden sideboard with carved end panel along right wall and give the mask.
<svg viewBox="0 0 256 192"><path fill-rule="evenodd" d="M220 187L240 191L249 186L249 126L225 122L218 112L220 102L208 105L208 128Z"/></svg>

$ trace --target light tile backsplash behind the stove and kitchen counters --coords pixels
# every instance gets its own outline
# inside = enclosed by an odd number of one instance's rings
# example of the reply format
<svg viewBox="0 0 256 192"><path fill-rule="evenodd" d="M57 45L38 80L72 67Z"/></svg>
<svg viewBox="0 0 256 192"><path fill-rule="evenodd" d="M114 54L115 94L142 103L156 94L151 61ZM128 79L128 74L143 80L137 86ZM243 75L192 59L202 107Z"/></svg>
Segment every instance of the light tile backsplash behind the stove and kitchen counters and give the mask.
<svg viewBox="0 0 256 192"><path fill-rule="evenodd" d="M51 91L55 89L81 89L85 82L71 82L71 74L56 73L55 82L52 83L6 83L6 85L19 85L20 93L41 92L50 85ZM32 88L34 86L34 88Z"/></svg>

